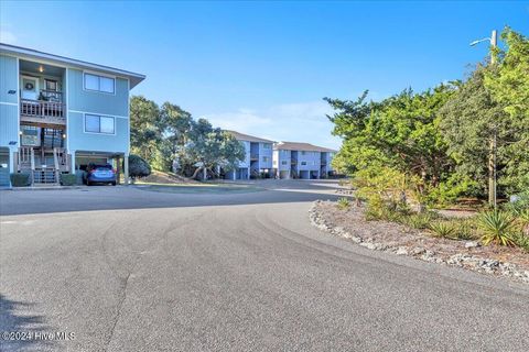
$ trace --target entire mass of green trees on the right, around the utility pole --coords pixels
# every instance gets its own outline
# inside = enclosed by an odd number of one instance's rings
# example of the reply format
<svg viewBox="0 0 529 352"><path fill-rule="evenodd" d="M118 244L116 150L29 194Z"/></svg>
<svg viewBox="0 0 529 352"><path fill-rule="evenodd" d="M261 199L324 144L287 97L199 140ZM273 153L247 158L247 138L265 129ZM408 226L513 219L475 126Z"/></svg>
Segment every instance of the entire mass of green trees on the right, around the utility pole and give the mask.
<svg viewBox="0 0 529 352"><path fill-rule="evenodd" d="M335 110L327 117L333 134L343 139L333 166L367 185L360 193L385 188L412 196L422 209L446 206L485 196L495 136L499 195L527 189L529 40L509 29L503 38L508 50L496 53L497 64L478 66L464 82L406 89L377 102L367 101L367 91L355 101L325 98ZM396 187L384 174L403 182Z"/></svg>

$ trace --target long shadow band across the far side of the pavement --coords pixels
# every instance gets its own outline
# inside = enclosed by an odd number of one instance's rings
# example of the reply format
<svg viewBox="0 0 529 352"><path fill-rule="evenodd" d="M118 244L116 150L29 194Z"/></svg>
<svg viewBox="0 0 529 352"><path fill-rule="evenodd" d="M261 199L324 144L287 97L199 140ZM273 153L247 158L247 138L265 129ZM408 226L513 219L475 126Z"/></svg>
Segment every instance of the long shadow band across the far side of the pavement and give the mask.
<svg viewBox="0 0 529 352"><path fill-rule="evenodd" d="M248 193L179 193L145 187L83 187L78 189L0 191L0 215L54 213L90 210L239 206L336 200L330 183L321 180L253 185Z"/></svg>

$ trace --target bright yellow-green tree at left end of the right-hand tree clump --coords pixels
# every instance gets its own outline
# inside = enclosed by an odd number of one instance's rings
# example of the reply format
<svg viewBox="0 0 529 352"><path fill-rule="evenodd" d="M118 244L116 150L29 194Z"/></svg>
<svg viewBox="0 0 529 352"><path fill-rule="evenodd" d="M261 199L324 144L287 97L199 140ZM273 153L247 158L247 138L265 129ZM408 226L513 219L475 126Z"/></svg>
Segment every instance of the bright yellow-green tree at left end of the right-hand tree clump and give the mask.
<svg viewBox="0 0 529 352"><path fill-rule="evenodd" d="M438 112L453 91L452 85L440 85L422 94L407 89L380 102L366 102L367 92L357 101L325 98L337 110L328 117L333 133L344 140L334 165L349 174L390 167L438 186L452 167Z"/></svg>

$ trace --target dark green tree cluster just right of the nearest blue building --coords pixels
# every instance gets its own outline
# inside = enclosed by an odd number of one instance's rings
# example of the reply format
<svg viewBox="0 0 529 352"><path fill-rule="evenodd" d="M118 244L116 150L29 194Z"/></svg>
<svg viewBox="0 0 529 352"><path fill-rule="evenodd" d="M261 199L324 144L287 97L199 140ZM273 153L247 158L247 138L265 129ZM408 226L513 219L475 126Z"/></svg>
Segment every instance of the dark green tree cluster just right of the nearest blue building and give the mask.
<svg viewBox="0 0 529 352"><path fill-rule="evenodd" d="M153 168L196 177L204 168L234 169L245 158L241 144L205 119L165 102L161 107L143 97L130 101L130 140L134 154Z"/></svg>

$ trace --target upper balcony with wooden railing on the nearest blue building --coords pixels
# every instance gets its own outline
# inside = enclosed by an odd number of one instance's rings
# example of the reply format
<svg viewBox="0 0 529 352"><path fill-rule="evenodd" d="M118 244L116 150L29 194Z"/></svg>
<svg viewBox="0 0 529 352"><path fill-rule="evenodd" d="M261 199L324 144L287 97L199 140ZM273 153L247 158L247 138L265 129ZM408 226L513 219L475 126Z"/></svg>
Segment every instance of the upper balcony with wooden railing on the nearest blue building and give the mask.
<svg viewBox="0 0 529 352"><path fill-rule="evenodd" d="M62 95L53 91L55 96ZM54 101L56 100L56 101ZM65 106L61 99L20 99L20 120L50 124L66 124Z"/></svg>

